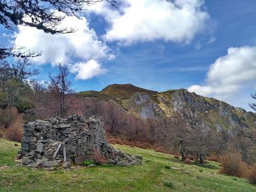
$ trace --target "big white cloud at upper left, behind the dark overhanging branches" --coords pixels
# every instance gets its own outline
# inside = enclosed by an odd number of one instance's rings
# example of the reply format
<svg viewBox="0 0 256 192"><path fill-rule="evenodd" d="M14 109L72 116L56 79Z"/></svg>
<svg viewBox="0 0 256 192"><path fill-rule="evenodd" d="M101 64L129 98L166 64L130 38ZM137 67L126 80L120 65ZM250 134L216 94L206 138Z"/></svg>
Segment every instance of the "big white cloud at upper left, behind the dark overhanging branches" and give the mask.
<svg viewBox="0 0 256 192"><path fill-rule="evenodd" d="M77 19L67 16L59 27L74 28L76 32L51 35L36 28L19 26L19 32L15 35L15 45L42 52L42 56L33 59L38 64L70 63L77 58L81 60L113 58L109 47L98 40L85 17Z"/></svg>

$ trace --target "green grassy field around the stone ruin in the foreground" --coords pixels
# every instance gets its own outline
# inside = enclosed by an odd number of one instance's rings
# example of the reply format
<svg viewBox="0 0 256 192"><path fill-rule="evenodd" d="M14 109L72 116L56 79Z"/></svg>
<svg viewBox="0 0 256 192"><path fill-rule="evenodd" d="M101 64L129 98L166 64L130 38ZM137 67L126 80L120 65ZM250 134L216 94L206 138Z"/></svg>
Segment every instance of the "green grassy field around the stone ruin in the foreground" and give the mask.
<svg viewBox="0 0 256 192"><path fill-rule="evenodd" d="M31 170L15 163L17 144L0 140L0 191L256 191L245 179L218 174L218 163L188 165L168 154L125 145L114 147L143 156L142 165Z"/></svg>

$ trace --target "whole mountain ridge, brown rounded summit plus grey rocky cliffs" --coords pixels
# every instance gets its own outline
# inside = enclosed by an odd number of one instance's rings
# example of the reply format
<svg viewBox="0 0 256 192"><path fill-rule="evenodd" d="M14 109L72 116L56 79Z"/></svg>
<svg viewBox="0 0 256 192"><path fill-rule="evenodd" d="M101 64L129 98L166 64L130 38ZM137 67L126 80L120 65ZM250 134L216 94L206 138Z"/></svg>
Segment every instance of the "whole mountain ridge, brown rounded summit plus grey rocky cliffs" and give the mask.
<svg viewBox="0 0 256 192"><path fill-rule="evenodd" d="M182 108L193 106L197 113L204 116L204 123L208 127L218 130L256 127L255 113L185 89L156 92L132 84L111 84L100 92L93 92L90 97L99 100L113 99L128 113L140 115L142 118L168 117Z"/></svg>

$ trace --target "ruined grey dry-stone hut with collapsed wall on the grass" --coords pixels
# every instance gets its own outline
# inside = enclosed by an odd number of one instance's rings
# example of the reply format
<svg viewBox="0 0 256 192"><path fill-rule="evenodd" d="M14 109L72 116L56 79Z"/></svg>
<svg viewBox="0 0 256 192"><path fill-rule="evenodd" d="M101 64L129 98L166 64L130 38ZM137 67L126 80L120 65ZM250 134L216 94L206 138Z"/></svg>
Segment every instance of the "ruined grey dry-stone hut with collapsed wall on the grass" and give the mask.
<svg viewBox="0 0 256 192"><path fill-rule="evenodd" d="M68 168L71 164L91 159L95 151L108 164L129 166L141 163L141 157L125 154L108 144L102 118L92 116L86 121L79 115L35 120L24 125L18 158L31 168Z"/></svg>

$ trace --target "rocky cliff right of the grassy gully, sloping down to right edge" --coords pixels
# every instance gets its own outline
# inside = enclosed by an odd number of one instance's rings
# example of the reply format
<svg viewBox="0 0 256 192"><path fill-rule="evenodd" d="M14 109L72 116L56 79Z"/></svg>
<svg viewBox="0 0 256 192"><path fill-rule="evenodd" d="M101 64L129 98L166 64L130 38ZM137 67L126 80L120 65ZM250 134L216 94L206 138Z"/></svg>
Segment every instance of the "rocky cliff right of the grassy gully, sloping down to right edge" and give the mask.
<svg viewBox="0 0 256 192"><path fill-rule="evenodd" d="M256 114L246 112L241 108L234 108L220 100L190 93L184 89L162 94L157 99L173 111L180 111L182 108L187 108L188 105L193 106L196 112L207 117L205 124L218 131L223 129L236 131L256 126Z"/></svg>

